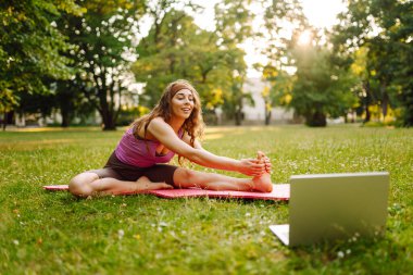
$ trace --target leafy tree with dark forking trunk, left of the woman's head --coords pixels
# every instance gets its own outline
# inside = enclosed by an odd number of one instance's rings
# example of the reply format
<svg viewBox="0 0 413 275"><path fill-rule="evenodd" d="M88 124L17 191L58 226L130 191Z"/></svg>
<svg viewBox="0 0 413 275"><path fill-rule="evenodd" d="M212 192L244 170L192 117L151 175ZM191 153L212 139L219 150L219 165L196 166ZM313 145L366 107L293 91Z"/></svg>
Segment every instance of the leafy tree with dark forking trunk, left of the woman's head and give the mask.
<svg viewBox="0 0 413 275"><path fill-rule="evenodd" d="M126 74L135 54L134 37L143 2L133 0L86 1L83 17L64 14L57 24L75 47L70 49L75 77L59 87L73 86L73 93L58 89L62 100L72 102L82 91L102 117L103 129L116 128L122 96L127 91ZM67 101L66 101L67 102ZM63 102L65 103L65 102ZM61 105L65 114L67 108Z"/></svg>

